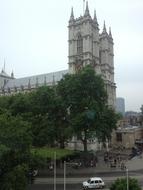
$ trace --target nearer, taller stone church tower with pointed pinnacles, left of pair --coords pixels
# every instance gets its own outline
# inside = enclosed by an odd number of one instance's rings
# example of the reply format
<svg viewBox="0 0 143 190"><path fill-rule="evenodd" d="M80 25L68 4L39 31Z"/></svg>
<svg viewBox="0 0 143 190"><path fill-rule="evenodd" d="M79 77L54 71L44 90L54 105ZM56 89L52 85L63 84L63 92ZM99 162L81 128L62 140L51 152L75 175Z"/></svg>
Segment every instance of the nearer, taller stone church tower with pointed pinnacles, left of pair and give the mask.
<svg viewBox="0 0 143 190"><path fill-rule="evenodd" d="M99 28L96 13L92 19L89 13L88 2L83 16L74 18L73 8L69 20L69 72L91 64L99 67Z"/></svg>

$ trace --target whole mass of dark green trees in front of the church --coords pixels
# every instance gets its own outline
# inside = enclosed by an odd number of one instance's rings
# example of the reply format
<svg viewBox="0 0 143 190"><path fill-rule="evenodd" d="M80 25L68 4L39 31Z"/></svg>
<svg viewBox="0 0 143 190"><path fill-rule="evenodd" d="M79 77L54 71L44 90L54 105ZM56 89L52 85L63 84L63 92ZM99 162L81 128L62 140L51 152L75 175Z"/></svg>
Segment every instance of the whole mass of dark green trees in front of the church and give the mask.
<svg viewBox="0 0 143 190"><path fill-rule="evenodd" d="M78 136L87 151L91 138L96 137L99 142L110 140L117 119L114 110L107 106L102 78L89 66L65 75L55 86L1 97L1 189L25 189L35 160L31 146L64 148L67 141Z"/></svg>

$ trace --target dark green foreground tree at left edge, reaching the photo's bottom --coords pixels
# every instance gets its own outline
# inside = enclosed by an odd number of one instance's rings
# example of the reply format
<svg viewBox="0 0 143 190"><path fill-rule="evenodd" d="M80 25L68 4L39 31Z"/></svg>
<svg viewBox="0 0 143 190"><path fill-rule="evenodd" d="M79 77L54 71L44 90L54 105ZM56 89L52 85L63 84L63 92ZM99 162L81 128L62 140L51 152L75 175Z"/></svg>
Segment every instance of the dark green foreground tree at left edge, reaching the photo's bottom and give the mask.
<svg viewBox="0 0 143 190"><path fill-rule="evenodd" d="M25 190L31 145L30 127L20 117L0 114L0 187ZM21 185L20 185L21 184Z"/></svg>

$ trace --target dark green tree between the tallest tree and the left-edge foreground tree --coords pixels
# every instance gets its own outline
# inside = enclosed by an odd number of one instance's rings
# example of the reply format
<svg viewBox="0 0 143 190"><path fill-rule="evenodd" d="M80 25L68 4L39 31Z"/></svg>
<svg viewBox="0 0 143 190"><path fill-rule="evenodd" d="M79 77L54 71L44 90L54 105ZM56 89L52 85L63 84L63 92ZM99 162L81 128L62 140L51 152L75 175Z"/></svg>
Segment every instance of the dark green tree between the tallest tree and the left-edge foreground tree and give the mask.
<svg viewBox="0 0 143 190"><path fill-rule="evenodd" d="M20 116L32 126L34 146L64 148L71 137L66 105L56 91L56 86L43 86L26 94L0 98L0 107L12 116Z"/></svg>

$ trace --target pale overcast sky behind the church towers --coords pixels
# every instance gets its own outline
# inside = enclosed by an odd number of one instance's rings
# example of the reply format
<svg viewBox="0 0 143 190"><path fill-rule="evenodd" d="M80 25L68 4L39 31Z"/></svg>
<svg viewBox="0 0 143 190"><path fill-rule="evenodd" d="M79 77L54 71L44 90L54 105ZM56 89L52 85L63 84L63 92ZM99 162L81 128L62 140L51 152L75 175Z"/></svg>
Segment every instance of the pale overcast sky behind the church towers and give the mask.
<svg viewBox="0 0 143 190"><path fill-rule="evenodd" d="M126 110L143 104L143 0L88 0L100 31L111 26L117 97ZM0 0L0 69L16 78L67 69L68 20L83 0Z"/></svg>

